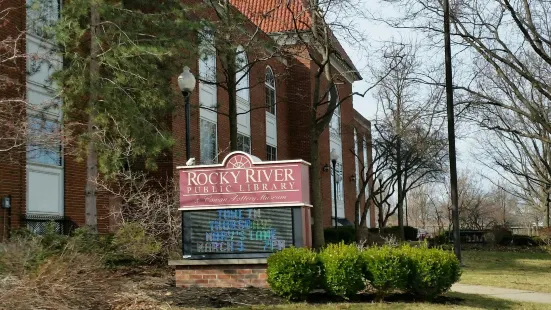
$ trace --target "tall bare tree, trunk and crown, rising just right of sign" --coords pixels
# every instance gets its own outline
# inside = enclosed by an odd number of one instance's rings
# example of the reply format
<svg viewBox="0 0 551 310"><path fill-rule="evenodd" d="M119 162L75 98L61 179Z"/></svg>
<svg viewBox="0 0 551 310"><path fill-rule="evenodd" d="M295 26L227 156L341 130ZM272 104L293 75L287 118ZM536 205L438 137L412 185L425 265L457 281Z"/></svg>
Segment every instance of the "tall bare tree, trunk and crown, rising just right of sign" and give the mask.
<svg viewBox="0 0 551 310"><path fill-rule="evenodd" d="M311 85L313 90L309 100L304 103L308 113L307 127L310 148L310 178L312 180L313 243L316 247L324 245L323 202L321 197L320 175L320 136L327 130L333 114L340 105L354 95L364 96L378 83L367 87L363 93L339 94L337 85L345 79L359 79L357 69L346 60L342 46L335 33L343 34L345 40L362 45L364 37L358 28L349 23L353 17L363 12L357 3L350 0L339 1L287 1L277 4L285 15L291 16L289 31L274 35L276 42L285 46L296 59L313 63ZM283 6L283 7L281 7ZM343 15L343 13L346 14ZM337 70L336 68L340 68Z"/></svg>

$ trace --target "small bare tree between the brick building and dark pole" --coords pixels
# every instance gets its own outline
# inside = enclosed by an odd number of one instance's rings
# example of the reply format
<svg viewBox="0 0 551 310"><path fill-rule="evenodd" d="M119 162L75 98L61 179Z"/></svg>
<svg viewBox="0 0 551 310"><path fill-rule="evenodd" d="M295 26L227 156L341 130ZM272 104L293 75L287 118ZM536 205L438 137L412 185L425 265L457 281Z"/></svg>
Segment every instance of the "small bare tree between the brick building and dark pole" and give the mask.
<svg viewBox="0 0 551 310"><path fill-rule="evenodd" d="M401 55L397 65L383 61L390 73L377 86L376 99L382 115L375 121L374 149L389 156L390 182L396 186L398 225L404 237L404 201L409 190L436 181L444 171L446 141L441 133L442 119L437 107L442 89L427 88L421 95L418 82L420 63L412 45L391 45ZM380 72L386 74L387 69ZM379 73L379 74L381 74ZM393 213L393 212L391 212Z"/></svg>

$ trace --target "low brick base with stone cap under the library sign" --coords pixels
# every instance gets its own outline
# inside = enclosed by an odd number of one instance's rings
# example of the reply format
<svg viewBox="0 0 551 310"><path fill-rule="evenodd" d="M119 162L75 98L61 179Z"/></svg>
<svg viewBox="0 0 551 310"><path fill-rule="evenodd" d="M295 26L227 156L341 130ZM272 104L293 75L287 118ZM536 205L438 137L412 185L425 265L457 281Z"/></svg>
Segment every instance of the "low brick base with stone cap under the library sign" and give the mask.
<svg viewBox="0 0 551 310"><path fill-rule="evenodd" d="M266 259L175 260L177 287L267 288Z"/></svg>

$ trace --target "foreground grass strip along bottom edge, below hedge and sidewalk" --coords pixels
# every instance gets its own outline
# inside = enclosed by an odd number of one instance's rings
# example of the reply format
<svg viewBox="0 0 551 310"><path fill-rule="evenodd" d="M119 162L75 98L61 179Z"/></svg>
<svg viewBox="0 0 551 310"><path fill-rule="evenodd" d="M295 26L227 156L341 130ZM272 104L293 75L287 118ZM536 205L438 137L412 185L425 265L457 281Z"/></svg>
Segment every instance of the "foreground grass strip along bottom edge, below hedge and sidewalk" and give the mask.
<svg viewBox="0 0 551 310"><path fill-rule="evenodd" d="M495 299L486 296L480 295L470 295L470 294L459 294L459 293L449 293L446 294L447 297L450 297L453 302L447 304L437 304L437 303L404 303L404 302L393 302L393 303L334 303L334 304L290 304L290 305L279 305L279 306L253 306L253 307L244 307L242 309L310 309L310 310L329 310L329 309L390 309L390 310L444 310L444 309L458 309L458 310L471 310L471 309L499 309L499 310L544 310L549 309L547 304L537 304L537 303L524 303L524 302L515 302L504 299ZM231 308L233 310L240 308Z"/></svg>

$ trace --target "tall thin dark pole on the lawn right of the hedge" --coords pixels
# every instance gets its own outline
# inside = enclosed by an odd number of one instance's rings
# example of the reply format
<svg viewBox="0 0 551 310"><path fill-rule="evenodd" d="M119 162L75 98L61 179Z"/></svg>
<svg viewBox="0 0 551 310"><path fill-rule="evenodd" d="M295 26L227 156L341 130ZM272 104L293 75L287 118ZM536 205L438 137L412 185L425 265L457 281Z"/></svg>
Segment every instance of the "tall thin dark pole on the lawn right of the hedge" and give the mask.
<svg viewBox="0 0 551 310"><path fill-rule="evenodd" d="M457 159L455 156L455 119L453 111L452 51L450 34L450 1L444 0L444 54L446 67L446 110L448 114L448 143L450 154L450 191L453 218L453 250L461 263L459 234L459 199L457 196Z"/></svg>

